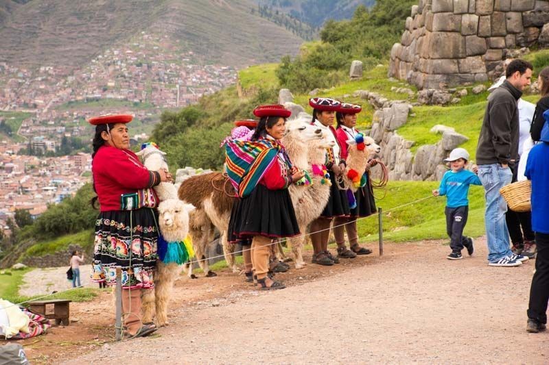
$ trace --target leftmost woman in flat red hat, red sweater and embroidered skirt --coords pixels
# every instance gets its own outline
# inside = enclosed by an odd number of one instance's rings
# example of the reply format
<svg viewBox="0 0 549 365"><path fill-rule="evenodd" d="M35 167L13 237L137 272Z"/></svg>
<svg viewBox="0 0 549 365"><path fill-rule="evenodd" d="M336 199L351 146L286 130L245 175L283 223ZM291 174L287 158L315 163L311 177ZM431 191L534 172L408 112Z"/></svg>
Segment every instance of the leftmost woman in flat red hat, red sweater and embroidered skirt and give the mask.
<svg viewBox="0 0 549 365"><path fill-rule="evenodd" d="M156 328L141 325L141 290L151 289L156 265L159 202L152 190L161 181L170 181L165 170L149 171L130 151L126 123L130 115L91 118L93 138L93 188L100 204L95 221L92 280L116 284L116 266L122 268L122 307L128 336L146 336Z"/></svg>

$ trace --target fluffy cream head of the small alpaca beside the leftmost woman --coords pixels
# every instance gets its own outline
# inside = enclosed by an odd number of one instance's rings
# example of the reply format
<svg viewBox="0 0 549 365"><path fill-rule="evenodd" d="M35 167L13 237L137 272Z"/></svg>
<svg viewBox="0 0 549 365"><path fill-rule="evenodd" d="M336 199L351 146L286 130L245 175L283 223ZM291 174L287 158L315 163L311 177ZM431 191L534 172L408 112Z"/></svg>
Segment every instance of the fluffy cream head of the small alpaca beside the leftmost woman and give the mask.
<svg viewBox="0 0 549 365"><path fill-rule="evenodd" d="M194 205L179 199L167 199L159 204L159 227L167 241L183 240L189 234L189 213Z"/></svg>

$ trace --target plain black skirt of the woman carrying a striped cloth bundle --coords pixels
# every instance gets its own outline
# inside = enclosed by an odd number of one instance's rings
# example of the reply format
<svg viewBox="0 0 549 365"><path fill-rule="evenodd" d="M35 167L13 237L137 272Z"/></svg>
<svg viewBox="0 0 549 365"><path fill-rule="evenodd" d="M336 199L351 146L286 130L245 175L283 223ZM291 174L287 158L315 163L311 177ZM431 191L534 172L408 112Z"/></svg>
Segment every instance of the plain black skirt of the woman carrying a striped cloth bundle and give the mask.
<svg viewBox="0 0 549 365"><path fill-rule="evenodd" d="M253 236L292 237L299 234L288 189L269 190L257 184L253 192L233 205L229 242Z"/></svg>

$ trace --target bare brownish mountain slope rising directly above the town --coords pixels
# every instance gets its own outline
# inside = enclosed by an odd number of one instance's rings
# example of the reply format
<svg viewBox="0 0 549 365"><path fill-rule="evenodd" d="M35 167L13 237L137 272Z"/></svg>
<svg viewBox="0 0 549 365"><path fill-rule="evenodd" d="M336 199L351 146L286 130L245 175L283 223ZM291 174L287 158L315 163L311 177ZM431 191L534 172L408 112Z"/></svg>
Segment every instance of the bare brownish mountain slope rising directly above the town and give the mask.
<svg viewBox="0 0 549 365"><path fill-rule="evenodd" d="M0 62L75 68L141 32L161 34L205 63L244 66L296 54L303 39L256 7L251 0L3 0Z"/></svg>

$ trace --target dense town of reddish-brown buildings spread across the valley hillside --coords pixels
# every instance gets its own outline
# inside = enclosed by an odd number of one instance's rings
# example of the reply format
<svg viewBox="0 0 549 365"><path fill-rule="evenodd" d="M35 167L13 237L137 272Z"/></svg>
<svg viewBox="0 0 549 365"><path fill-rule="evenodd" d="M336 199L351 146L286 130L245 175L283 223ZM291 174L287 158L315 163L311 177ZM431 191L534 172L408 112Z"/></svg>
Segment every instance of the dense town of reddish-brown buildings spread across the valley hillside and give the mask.
<svg viewBox="0 0 549 365"><path fill-rule="evenodd" d="M91 181L89 153L42 158L21 155L21 150L47 155L57 151L62 138L86 142L92 133L86 120L108 112L133 114L139 127L132 138L146 140L162 110L182 108L235 83L235 68L201 64L192 51L180 49L142 32L78 70L0 62L0 125L16 120L16 139L0 134L0 227L15 210L36 217L47 204Z"/></svg>

